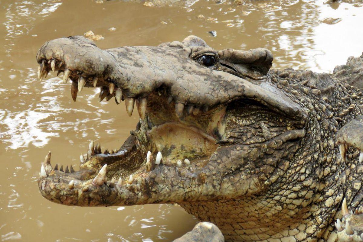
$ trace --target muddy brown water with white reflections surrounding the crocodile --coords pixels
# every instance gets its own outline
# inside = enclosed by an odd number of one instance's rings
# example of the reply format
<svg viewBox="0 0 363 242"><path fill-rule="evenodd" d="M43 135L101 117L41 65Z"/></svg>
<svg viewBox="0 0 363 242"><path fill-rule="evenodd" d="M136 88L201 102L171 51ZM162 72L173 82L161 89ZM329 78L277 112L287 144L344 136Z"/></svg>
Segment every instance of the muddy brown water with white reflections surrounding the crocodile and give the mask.
<svg viewBox="0 0 363 242"><path fill-rule="evenodd" d="M99 103L99 90L85 88L73 103L70 84L56 75L39 83L35 55L45 41L92 30L105 37L96 42L99 47L111 48L193 34L216 49L266 47L274 68L326 72L363 51L363 4L240 3L188 0L147 7L117 0L0 0L0 240L170 241L197 222L174 205L81 208L40 195L36 180L49 150L53 164L78 167L89 140L116 149L138 120L114 99Z"/></svg>

